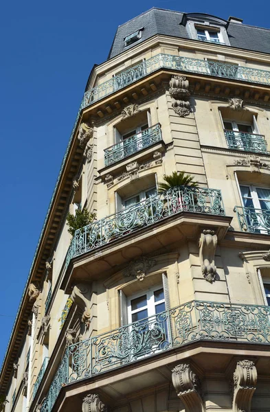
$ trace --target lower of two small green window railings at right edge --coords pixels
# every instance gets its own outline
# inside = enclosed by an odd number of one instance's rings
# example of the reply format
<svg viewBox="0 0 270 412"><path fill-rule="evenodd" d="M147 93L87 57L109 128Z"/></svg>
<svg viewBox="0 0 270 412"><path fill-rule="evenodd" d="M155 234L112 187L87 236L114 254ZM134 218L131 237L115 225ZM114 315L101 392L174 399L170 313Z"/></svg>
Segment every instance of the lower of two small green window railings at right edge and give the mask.
<svg viewBox="0 0 270 412"><path fill-rule="evenodd" d="M241 231L270 235L270 210L234 207Z"/></svg>

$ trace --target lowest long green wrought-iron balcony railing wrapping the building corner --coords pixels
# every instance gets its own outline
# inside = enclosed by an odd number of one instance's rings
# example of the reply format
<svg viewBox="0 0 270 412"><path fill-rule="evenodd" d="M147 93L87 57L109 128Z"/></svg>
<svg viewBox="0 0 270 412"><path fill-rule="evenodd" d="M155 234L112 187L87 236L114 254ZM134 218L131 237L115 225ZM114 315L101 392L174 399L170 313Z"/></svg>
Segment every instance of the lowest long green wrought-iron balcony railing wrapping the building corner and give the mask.
<svg viewBox="0 0 270 412"><path fill-rule="evenodd" d="M270 344L269 306L190 301L70 345L43 402L50 412L61 387L196 341ZM242 346L241 346L242 347Z"/></svg>

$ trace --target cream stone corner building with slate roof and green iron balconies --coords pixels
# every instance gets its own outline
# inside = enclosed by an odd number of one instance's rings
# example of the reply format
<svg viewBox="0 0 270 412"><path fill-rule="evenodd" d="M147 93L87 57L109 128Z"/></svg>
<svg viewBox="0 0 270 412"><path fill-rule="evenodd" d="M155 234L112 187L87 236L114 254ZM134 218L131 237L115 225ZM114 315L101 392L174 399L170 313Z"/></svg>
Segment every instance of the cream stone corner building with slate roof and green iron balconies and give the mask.
<svg viewBox="0 0 270 412"><path fill-rule="evenodd" d="M234 17L118 27L36 248L5 412L270 411L269 56L269 30ZM197 185L161 192L174 172ZM77 210L95 218L72 238Z"/></svg>

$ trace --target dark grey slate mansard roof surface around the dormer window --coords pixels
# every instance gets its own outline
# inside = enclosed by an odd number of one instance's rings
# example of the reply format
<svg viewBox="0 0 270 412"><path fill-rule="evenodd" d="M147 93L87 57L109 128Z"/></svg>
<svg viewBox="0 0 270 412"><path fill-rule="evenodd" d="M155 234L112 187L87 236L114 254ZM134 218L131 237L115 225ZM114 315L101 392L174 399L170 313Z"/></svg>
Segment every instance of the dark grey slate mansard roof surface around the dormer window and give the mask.
<svg viewBox="0 0 270 412"><path fill-rule="evenodd" d="M175 12L159 8L152 8L140 14L118 27L108 58L117 56L117 54L142 43L147 38L155 36L155 34L189 38L185 28L185 20L188 15L189 14L183 12ZM205 16L207 16L207 14L205 14ZM131 34L142 27L144 27L144 30L142 30L142 38L125 47L124 38L128 36L128 34ZM233 47L270 54L269 29L228 21L227 34L229 36L230 44Z"/></svg>

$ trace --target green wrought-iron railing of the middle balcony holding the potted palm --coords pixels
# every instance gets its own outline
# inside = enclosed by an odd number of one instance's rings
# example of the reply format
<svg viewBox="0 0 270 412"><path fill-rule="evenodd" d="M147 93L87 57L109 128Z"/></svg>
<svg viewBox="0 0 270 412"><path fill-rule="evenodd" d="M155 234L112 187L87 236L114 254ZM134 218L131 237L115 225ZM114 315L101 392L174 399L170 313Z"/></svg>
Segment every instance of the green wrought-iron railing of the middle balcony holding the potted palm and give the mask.
<svg viewBox="0 0 270 412"><path fill-rule="evenodd" d="M137 205L82 227L75 232L67 252L66 267L76 256L153 225L159 220L170 218L181 211L225 216L221 191L203 187L172 187L163 194L152 196Z"/></svg>

